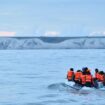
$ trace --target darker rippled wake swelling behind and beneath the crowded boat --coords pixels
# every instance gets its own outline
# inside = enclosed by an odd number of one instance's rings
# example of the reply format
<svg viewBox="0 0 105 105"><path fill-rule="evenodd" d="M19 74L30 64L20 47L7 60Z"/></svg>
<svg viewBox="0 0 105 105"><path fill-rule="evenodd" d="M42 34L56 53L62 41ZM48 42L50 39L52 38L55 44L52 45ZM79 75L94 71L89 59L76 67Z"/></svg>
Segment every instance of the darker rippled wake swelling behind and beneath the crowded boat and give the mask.
<svg viewBox="0 0 105 105"><path fill-rule="evenodd" d="M66 83L50 84L48 86L48 89L66 91L66 92L69 92L69 93L82 94L82 95L87 95L87 94L90 94L90 93L92 93L92 94L103 94L105 92L105 88L95 89L95 88L83 87L83 88L80 88L80 89L76 89L75 87L73 88L72 86L69 86Z"/></svg>

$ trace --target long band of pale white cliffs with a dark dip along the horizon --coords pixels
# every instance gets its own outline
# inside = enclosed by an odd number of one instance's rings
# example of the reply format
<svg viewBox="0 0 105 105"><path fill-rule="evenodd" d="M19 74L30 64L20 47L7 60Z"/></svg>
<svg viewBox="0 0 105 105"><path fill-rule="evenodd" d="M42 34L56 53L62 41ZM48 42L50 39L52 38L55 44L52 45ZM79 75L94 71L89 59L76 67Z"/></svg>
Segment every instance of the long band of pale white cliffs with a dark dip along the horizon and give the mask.
<svg viewBox="0 0 105 105"><path fill-rule="evenodd" d="M0 37L0 49L105 49L105 37Z"/></svg>

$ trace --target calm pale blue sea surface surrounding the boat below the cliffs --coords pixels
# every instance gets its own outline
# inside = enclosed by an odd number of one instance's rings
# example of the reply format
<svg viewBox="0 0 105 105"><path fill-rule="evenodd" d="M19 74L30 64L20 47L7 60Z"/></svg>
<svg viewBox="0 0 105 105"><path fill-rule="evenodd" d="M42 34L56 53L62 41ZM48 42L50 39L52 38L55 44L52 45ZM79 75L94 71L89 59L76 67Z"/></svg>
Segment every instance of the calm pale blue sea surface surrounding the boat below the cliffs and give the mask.
<svg viewBox="0 0 105 105"><path fill-rule="evenodd" d="M105 105L105 91L66 87L69 68L105 71L105 50L0 50L0 105Z"/></svg>

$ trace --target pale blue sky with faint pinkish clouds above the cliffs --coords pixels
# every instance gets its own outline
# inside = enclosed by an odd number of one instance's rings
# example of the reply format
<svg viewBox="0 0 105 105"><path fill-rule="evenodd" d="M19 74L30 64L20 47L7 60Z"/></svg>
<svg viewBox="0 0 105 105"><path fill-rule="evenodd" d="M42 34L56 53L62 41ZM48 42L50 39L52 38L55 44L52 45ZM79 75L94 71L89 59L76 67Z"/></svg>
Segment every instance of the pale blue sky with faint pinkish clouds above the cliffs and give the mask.
<svg viewBox="0 0 105 105"><path fill-rule="evenodd" d="M105 0L0 0L0 36L97 35L105 35Z"/></svg>

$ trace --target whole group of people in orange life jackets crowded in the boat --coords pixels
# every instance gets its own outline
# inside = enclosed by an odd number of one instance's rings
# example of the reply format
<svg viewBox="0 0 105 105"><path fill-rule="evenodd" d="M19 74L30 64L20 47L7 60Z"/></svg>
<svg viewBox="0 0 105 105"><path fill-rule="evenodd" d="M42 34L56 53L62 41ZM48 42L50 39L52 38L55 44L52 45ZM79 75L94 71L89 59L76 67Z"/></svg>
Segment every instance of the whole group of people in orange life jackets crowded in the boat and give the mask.
<svg viewBox="0 0 105 105"><path fill-rule="evenodd" d="M67 73L68 81L74 81L76 84L87 87L98 88L98 83L100 82L105 86L105 73L95 69L95 75L91 74L91 70L88 67L82 68L82 70L77 70L74 72L73 68Z"/></svg>

